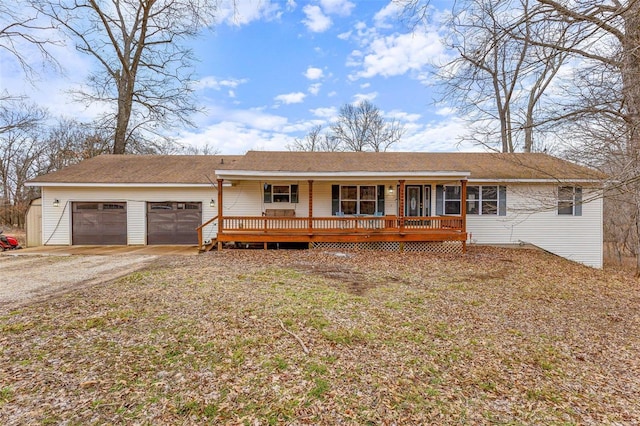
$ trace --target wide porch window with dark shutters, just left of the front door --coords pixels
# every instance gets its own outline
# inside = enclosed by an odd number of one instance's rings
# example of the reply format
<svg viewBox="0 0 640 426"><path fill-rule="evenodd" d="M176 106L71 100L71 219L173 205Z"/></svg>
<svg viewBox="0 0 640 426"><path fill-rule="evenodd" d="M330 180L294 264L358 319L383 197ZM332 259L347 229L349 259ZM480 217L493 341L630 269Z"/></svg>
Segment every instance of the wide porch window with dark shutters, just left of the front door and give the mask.
<svg viewBox="0 0 640 426"><path fill-rule="evenodd" d="M384 185L333 185L331 198L333 214L384 212Z"/></svg>

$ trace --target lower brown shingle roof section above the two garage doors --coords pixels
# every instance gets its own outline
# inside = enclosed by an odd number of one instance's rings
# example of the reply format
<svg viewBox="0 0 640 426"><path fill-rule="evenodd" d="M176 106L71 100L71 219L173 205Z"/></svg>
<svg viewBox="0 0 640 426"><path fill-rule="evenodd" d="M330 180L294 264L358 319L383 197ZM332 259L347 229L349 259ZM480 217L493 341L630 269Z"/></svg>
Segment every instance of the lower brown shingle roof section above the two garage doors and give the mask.
<svg viewBox="0 0 640 426"><path fill-rule="evenodd" d="M239 155L100 155L32 183L208 184Z"/></svg>

